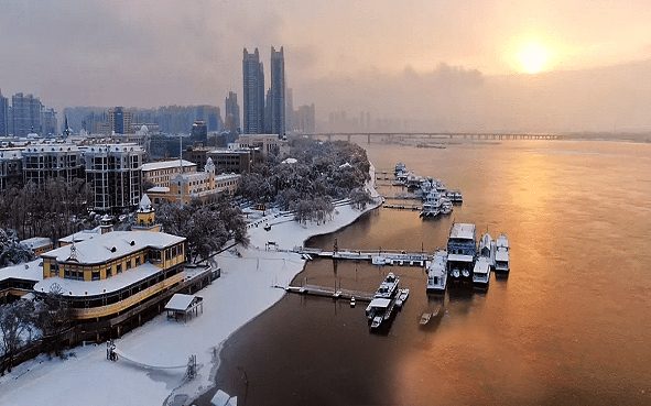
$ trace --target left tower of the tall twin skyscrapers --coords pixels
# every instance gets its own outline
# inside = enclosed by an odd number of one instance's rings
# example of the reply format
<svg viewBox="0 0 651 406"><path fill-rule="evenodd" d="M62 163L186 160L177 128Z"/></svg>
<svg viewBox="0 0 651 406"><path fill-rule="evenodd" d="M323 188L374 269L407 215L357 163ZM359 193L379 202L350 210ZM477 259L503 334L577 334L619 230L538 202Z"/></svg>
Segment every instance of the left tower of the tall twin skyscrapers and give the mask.
<svg viewBox="0 0 651 406"><path fill-rule="evenodd" d="M264 131L264 69L258 48L252 54L245 48L243 76L243 133L258 134Z"/></svg>

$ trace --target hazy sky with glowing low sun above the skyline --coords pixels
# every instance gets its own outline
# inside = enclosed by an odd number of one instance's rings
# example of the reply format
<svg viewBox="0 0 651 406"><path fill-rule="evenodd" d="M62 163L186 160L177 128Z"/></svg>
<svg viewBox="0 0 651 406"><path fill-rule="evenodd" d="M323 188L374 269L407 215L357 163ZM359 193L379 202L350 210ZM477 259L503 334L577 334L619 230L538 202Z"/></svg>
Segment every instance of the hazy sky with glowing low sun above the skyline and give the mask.
<svg viewBox="0 0 651 406"><path fill-rule="evenodd" d="M650 22L648 0L0 0L0 89L59 114L224 108L230 89L241 103L242 48L260 50L269 84L270 48L284 46L294 106L321 118L651 128ZM607 100L586 106L595 91Z"/></svg>

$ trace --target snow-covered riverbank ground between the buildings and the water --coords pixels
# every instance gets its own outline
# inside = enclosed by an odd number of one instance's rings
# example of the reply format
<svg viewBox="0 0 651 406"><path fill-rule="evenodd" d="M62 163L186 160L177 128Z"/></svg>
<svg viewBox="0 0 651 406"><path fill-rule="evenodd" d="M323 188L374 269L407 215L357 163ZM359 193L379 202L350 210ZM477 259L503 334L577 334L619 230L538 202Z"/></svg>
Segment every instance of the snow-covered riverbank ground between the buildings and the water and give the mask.
<svg viewBox="0 0 651 406"><path fill-rule="evenodd" d="M184 381L184 369L148 370L124 358L107 361L106 344L93 344L73 349L66 360L40 355L14 367L0 377L0 405L188 404L211 385L219 345L284 295L273 284L287 285L303 268L297 254L267 251L267 242L291 250L312 235L349 224L362 212L341 206L333 221L308 226L267 216L261 220L271 230L265 231L262 223L250 228L251 245L238 248L241 257L229 252L217 257L221 277L197 293L204 297L203 315L183 323L169 321L163 314L116 340L121 353L145 365L184 365L195 354L200 367L194 380Z"/></svg>

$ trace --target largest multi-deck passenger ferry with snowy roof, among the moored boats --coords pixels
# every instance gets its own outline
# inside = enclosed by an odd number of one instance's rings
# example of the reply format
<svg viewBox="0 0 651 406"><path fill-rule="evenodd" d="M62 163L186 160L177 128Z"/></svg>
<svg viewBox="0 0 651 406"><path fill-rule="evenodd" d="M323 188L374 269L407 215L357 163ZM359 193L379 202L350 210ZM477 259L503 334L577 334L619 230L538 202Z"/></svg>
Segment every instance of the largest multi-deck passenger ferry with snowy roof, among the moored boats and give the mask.
<svg viewBox="0 0 651 406"><path fill-rule="evenodd" d="M476 227L471 223L453 223L447 239L447 273L453 281L473 281L477 255Z"/></svg>

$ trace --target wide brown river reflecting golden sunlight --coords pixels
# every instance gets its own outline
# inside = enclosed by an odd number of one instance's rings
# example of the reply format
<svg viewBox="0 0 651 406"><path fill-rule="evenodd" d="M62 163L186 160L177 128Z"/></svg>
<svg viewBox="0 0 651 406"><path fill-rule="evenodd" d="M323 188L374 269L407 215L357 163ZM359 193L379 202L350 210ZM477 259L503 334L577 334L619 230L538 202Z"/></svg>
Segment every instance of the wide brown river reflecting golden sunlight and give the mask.
<svg viewBox="0 0 651 406"><path fill-rule="evenodd" d="M239 405L651 404L650 144L361 145L378 171L402 162L463 205L425 221L379 208L306 245L432 253L453 221L471 222L508 235L509 277L437 298L417 266L312 261L294 285L373 292L391 271L410 298L377 334L366 304L285 295L227 340L217 387Z"/></svg>

